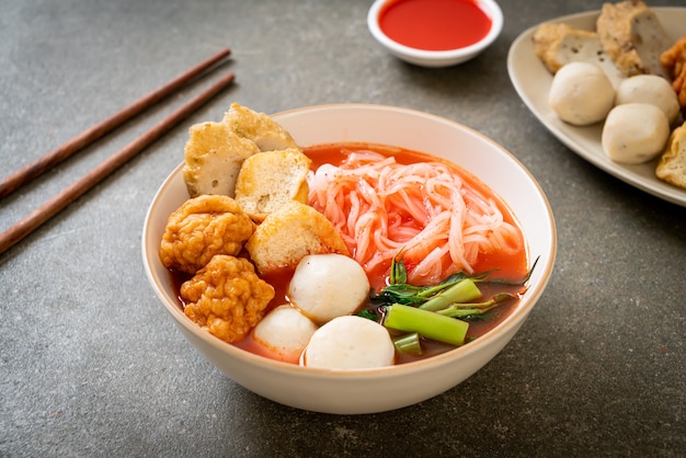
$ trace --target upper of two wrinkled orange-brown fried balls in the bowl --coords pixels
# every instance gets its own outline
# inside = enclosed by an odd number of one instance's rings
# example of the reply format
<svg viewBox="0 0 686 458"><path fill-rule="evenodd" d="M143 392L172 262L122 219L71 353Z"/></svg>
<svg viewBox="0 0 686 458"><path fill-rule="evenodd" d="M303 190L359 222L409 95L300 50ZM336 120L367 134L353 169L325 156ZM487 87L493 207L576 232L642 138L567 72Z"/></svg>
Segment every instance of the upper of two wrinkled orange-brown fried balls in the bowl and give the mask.
<svg viewBox="0 0 686 458"><path fill-rule="evenodd" d="M238 254L253 231L254 224L231 197L201 195L167 220L160 261L167 268L195 274L215 254Z"/></svg>

